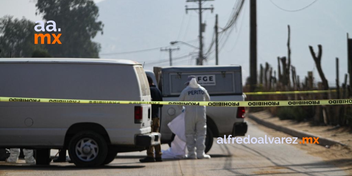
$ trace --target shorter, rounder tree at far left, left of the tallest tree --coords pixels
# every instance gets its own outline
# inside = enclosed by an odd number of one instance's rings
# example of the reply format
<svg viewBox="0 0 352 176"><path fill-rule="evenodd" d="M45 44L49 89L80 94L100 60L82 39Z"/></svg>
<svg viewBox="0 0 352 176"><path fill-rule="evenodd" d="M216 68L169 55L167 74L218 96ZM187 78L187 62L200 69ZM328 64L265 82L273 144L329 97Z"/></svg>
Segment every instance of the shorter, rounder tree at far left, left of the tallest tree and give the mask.
<svg viewBox="0 0 352 176"><path fill-rule="evenodd" d="M43 50L44 46L34 44L34 26L25 18L0 18L0 57L31 57L33 50Z"/></svg>

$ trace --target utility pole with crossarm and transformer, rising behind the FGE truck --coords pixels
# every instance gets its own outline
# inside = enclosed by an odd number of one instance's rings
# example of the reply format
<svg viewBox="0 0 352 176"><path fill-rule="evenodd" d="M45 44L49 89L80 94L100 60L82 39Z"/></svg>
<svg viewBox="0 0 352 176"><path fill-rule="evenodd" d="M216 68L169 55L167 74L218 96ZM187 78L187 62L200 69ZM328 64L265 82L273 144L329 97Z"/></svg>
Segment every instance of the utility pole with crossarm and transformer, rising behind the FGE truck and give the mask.
<svg viewBox="0 0 352 176"><path fill-rule="evenodd" d="M204 1L213 1L213 0L187 0L186 2L197 2L198 8L188 8L186 6L186 14L188 10L197 10L199 11L199 57L197 58L197 65L203 65L203 32L205 32L205 24L202 23L202 12L203 10L211 10L213 13L214 7L211 5L208 8L202 8L202 3Z"/></svg>

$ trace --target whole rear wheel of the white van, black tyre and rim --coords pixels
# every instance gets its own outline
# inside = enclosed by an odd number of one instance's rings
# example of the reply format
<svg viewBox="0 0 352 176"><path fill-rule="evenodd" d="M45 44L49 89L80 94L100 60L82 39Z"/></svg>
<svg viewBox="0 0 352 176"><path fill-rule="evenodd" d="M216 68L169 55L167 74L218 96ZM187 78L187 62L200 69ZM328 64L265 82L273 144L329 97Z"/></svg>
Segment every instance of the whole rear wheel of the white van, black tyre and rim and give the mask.
<svg viewBox="0 0 352 176"><path fill-rule="evenodd" d="M76 166L94 167L102 165L108 153L105 139L93 131L82 131L73 136L68 153Z"/></svg>

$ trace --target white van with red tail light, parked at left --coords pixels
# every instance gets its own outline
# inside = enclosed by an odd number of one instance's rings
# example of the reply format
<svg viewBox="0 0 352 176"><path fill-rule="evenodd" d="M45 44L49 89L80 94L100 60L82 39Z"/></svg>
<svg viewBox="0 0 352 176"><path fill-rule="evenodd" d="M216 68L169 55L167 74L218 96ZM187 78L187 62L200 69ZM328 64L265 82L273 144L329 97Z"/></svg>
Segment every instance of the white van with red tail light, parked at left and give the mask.
<svg viewBox="0 0 352 176"><path fill-rule="evenodd" d="M151 105L43 103L38 98L151 101L142 65L129 60L74 58L0 59L0 148L68 149L78 166L113 161L118 152L160 143L151 133ZM28 99L27 99L28 98Z"/></svg>

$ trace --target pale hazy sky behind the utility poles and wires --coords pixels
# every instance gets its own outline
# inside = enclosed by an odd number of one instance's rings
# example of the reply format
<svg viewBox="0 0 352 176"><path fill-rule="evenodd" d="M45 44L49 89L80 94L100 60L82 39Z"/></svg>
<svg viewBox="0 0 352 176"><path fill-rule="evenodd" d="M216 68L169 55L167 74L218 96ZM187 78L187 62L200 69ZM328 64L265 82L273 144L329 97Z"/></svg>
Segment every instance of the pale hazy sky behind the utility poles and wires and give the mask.
<svg viewBox="0 0 352 176"><path fill-rule="evenodd" d="M287 10L297 10L314 0L272 0ZM0 0L0 17L10 14L33 21L42 19L35 15L34 0ZM168 52L159 49L128 54L113 54L126 51L160 48L170 41L181 40L199 46L198 14L185 13L184 6L196 7L186 0L95 0L99 6L100 17L105 24L104 34L94 39L100 42L101 58L132 59L145 62L145 69L153 66L169 65ZM269 62L277 69L277 56L287 55L287 25L291 26L291 63L297 75L303 78L307 71L314 70L316 81L320 77L310 55L308 45L317 51L318 44L323 47L322 67L329 81L335 83L335 57L340 58L340 80L347 73L346 33L352 36L350 9L351 0L318 0L312 6L298 12L286 12L273 5L270 0L257 0L258 26L258 70L259 64ZM207 51L213 35L215 14L219 14L220 27L225 26L235 0L207 1L204 7L214 5L214 13L206 11L203 19L207 27L204 34L204 52ZM57 26L65 24L57 24ZM226 40L227 38L227 40ZM196 49L186 45L176 45L181 50L174 51L174 65L195 64L195 57L186 56ZM249 76L249 0L245 2L241 15L233 31L220 42L220 64L238 64L243 67L243 78ZM193 54L196 56L196 54ZM214 52L205 64L214 65ZM156 61L158 63L156 63ZM152 64L154 63L154 64Z"/></svg>

